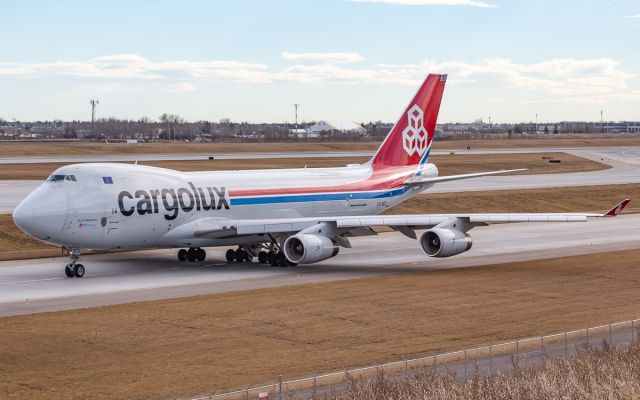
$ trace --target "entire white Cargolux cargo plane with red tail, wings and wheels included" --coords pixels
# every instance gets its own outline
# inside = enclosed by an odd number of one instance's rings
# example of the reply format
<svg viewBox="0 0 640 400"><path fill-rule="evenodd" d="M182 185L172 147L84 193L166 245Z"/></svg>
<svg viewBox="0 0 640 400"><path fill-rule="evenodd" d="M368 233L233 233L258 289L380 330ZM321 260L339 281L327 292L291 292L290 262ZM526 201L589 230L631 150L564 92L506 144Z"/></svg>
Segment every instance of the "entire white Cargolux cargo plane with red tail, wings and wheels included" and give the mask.
<svg viewBox="0 0 640 400"><path fill-rule="evenodd" d="M471 248L468 232L493 222L578 222L605 214L378 215L456 179L429 164L446 75L429 75L373 156L341 168L181 172L131 164L59 168L18 205L15 223L27 234L70 252L69 277L82 277L80 249L182 248L180 261L203 261L203 247L233 246L227 260L254 257L273 266L310 264L351 247L349 238L391 227L418 239L426 255L449 257ZM515 171L515 170L512 170ZM527 179L523 176L522 179ZM418 238L416 231L424 230ZM505 246L508 241L505 240Z"/></svg>

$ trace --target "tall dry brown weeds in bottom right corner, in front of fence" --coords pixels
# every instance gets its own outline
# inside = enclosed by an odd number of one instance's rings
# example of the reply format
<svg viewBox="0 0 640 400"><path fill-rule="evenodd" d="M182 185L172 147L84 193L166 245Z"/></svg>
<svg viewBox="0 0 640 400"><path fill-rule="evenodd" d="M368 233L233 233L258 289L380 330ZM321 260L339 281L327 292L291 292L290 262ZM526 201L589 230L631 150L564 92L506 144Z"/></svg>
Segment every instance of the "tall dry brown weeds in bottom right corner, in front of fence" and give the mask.
<svg viewBox="0 0 640 400"><path fill-rule="evenodd" d="M319 397L314 397L315 399ZM421 368L400 377L384 372L375 379L352 379L346 390L324 400L512 400L512 399L638 399L640 344L629 347L580 348L570 359L531 365L513 375L478 370L461 383L455 374L434 375Z"/></svg>

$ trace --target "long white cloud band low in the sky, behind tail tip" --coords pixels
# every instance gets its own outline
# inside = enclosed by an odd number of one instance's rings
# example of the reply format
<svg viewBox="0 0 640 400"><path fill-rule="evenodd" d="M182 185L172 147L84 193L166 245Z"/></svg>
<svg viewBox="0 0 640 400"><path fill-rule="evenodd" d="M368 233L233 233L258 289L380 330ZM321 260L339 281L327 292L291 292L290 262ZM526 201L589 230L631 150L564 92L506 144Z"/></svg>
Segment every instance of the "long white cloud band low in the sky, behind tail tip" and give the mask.
<svg viewBox="0 0 640 400"><path fill-rule="evenodd" d="M418 85L427 72L445 72L449 84L495 82L498 88L523 92L523 101L539 97L549 101L603 102L636 100L634 74L610 58L555 58L518 63L507 58L478 62L425 60L415 64L350 65L364 58L358 53L282 53L290 64L273 69L261 63L232 60L151 61L136 54L110 55L86 61L51 63L0 62L0 78L66 77L99 92L192 92L210 82L270 84L275 82L336 82L343 84ZM634 91L635 90L635 91Z"/></svg>

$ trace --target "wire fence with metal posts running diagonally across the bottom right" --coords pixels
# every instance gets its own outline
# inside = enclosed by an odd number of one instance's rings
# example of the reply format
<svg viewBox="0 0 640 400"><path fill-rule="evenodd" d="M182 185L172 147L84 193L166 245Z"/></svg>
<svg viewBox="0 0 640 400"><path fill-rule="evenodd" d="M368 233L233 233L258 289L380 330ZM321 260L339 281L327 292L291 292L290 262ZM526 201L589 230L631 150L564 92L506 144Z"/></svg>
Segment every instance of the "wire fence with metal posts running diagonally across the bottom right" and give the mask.
<svg viewBox="0 0 640 400"><path fill-rule="evenodd" d="M295 397L310 398L313 394L340 389L340 385L348 379L375 377L381 370L388 374L406 374L414 368L431 368L435 374L453 371L459 379L466 381L478 369L479 372L488 374L491 378L498 371L510 374L518 368L545 363L553 358L571 357L580 346L603 347L606 344L614 346L630 344L640 338L639 321L634 319L503 343L487 343L473 348L422 357L402 357L398 361L347 368L299 379L284 380L280 375L276 381L268 385L247 386L244 389L223 393L214 392L191 400L282 400L290 394L295 394Z"/></svg>

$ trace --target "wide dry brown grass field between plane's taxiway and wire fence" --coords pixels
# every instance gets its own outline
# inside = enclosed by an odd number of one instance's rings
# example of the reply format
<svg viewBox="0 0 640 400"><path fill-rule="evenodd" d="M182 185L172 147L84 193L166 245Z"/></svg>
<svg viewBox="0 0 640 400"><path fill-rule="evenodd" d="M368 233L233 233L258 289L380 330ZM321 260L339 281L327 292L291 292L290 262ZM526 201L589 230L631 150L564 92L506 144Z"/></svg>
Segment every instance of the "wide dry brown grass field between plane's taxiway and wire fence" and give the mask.
<svg viewBox="0 0 640 400"><path fill-rule="evenodd" d="M591 254L2 318L0 398L173 398L628 320L638 317L639 258Z"/></svg>

